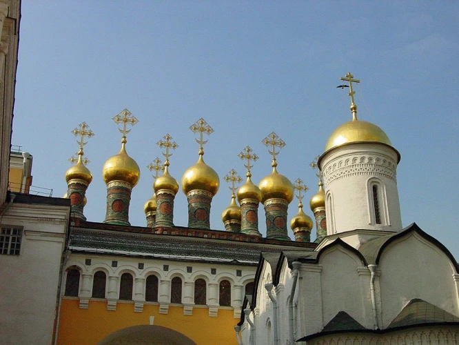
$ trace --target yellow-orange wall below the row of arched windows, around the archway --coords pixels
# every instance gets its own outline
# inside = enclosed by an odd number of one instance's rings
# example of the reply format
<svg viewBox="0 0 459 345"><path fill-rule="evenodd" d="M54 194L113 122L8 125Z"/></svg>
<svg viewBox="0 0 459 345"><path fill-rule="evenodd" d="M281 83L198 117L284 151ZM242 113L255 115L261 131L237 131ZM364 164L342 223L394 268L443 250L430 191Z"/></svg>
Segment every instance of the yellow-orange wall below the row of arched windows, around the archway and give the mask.
<svg viewBox="0 0 459 345"><path fill-rule="evenodd" d="M79 308L78 299L62 299L59 319L59 345L92 345L120 329L150 324L171 328L198 345L237 345L234 326L238 319L232 310L219 309L210 317L207 308L193 308L193 315L183 315L183 308L170 306L167 315L159 305L145 304L142 313L134 313L133 303L118 303L116 311L107 310L107 302L90 301L88 309Z"/></svg>

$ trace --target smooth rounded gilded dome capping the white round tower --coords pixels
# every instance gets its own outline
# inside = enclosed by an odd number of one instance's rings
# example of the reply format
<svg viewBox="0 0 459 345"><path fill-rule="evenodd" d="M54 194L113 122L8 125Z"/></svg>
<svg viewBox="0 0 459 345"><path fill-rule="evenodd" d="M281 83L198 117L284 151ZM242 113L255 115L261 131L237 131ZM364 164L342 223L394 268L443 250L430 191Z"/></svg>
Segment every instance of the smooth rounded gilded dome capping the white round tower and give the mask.
<svg viewBox="0 0 459 345"><path fill-rule="evenodd" d="M378 142L392 146L389 137L378 126L367 121L352 120L342 124L329 136L325 151L343 144L362 141Z"/></svg>

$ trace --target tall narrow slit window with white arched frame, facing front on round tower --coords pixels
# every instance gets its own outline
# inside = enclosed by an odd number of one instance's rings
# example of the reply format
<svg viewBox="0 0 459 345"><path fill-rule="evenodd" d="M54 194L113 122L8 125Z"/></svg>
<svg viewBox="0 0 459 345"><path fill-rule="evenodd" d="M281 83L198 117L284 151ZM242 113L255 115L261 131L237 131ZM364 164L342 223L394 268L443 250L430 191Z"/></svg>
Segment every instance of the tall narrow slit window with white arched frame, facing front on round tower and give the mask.
<svg viewBox="0 0 459 345"><path fill-rule="evenodd" d="M383 181L376 177L367 181L367 201L369 224L389 225L386 186Z"/></svg>

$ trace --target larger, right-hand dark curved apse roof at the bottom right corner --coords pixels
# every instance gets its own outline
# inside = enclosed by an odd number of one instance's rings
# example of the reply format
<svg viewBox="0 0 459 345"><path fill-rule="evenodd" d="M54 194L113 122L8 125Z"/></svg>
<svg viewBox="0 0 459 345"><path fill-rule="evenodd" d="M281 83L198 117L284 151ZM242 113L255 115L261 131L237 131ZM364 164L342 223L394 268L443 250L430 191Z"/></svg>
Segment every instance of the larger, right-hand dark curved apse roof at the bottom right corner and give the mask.
<svg viewBox="0 0 459 345"><path fill-rule="evenodd" d="M438 306L416 298L411 299L387 328L412 326L415 324L435 324L439 322L459 322L459 317L438 308Z"/></svg>

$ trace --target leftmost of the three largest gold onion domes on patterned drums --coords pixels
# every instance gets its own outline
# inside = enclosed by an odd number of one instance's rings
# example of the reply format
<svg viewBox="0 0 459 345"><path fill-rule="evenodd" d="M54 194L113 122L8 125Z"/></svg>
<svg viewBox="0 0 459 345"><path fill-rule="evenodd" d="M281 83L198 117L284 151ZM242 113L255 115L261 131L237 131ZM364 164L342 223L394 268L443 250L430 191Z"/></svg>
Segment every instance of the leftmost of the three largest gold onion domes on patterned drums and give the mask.
<svg viewBox="0 0 459 345"><path fill-rule="evenodd" d="M105 184L111 181L123 181L134 187L139 182L140 168L136 161L128 156L125 143L121 144L121 150L117 155L105 161L102 176Z"/></svg>

